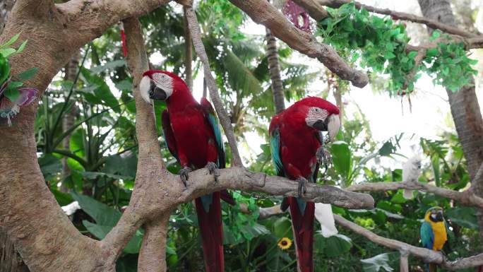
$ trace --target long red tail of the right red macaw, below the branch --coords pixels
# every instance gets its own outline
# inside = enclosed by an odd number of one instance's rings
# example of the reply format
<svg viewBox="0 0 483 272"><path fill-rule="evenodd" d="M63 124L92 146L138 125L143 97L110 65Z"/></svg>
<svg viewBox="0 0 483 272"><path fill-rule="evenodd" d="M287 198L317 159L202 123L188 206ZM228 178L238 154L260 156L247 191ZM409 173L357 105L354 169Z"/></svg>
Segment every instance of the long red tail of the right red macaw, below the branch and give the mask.
<svg viewBox="0 0 483 272"><path fill-rule="evenodd" d="M301 272L314 272L314 215L315 203L306 202L305 213L302 215L297 198L289 197L290 215L294 228L294 238L297 244L297 255Z"/></svg>

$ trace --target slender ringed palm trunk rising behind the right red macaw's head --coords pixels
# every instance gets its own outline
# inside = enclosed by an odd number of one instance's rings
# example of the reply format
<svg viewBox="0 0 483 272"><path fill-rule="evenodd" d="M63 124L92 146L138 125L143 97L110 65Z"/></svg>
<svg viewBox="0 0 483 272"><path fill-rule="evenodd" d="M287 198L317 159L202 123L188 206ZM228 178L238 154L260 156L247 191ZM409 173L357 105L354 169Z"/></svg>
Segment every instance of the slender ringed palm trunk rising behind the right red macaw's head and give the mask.
<svg viewBox="0 0 483 272"><path fill-rule="evenodd" d="M275 113L285 110L285 97L283 94L282 78L280 76L280 64L278 62L277 40L273 37L272 32L266 28L267 40L267 57L268 69L270 71L273 103L275 104Z"/></svg>

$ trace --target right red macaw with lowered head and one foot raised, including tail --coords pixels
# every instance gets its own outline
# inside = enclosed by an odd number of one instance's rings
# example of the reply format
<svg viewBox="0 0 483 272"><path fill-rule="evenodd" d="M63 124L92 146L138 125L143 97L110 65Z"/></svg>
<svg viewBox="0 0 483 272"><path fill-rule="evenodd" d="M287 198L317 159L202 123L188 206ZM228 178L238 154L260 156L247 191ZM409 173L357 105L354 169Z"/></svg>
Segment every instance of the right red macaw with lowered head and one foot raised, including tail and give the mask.
<svg viewBox="0 0 483 272"><path fill-rule="evenodd" d="M316 182L318 166L327 167L321 131L333 140L339 131L339 109L318 97L306 97L275 115L270 122L270 148L277 175L299 182L299 196L305 194L307 182ZM290 206L292 227L297 244L301 272L313 272L315 204L297 197L282 201L282 211Z"/></svg>

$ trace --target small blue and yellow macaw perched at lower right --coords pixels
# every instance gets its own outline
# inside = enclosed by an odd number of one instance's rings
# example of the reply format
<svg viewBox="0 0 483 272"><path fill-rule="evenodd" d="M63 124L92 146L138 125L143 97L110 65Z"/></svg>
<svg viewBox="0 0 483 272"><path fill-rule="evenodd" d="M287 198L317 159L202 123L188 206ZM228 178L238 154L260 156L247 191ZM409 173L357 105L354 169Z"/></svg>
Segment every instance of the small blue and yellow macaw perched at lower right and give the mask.
<svg viewBox="0 0 483 272"><path fill-rule="evenodd" d="M432 207L426 211L421 225L421 242L423 247L440 251L448 240L447 226L443 218L443 208ZM427 272L436 272L436 264L426 264Z"/></svg>

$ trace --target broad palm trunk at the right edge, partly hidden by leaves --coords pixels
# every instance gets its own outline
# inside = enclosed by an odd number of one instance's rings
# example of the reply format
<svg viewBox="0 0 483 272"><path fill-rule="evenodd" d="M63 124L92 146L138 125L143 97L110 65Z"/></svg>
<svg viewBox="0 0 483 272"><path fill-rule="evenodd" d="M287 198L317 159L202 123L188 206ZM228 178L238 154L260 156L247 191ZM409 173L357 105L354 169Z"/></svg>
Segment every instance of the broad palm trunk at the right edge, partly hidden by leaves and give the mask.
<svg viewBox="0 0 483 272"><path fill-rule="evenodd" d="M437 20L445 25L456 26L455 17L448 0L418 0L424 17ZM429 30L431 31L431 30ZM483 119L475 93L475 82L453 93L448 93L451 114L455 122L458 137L463 146L463 153L468 166L468 172L473 179L483 162ZM472 187L479 196L483 196L483 177L472 182ZM478 211L480 230L483 230L483 209ZM479 232L483 241L483 231Z"/></svg>

